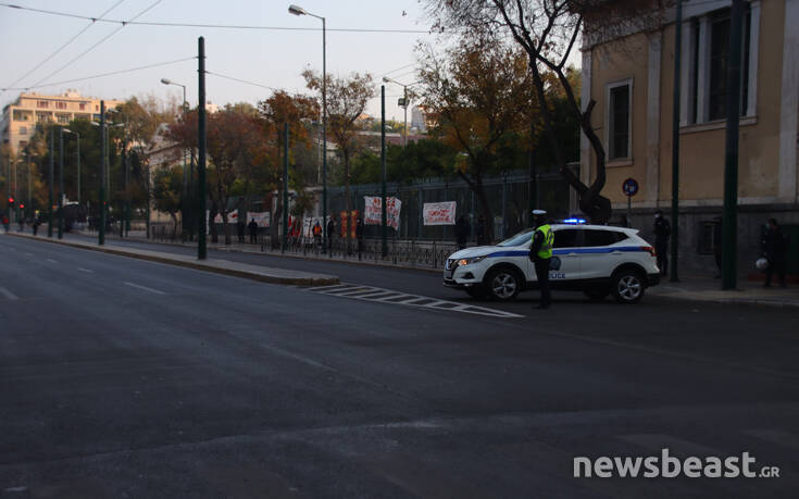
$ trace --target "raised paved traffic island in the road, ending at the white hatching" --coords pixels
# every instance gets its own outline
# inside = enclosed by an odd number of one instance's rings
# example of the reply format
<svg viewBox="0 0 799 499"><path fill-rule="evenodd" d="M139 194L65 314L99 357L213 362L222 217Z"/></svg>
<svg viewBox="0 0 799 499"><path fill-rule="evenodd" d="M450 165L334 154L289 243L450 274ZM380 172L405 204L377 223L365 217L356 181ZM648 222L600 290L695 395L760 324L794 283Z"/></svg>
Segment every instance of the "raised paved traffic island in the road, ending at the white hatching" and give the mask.
<svg viewBox="0 0 799 499"><path fill-rule="evenodd" d="M47 232L45 232L47 234ZM196 257L150 251L124 246L114 246L113 242L98 246L97 242L75 239L55 239L47 236L33 236L30 234L10 232L9 235L25 239L50 242L54 245L70 246L90 251L130 257L151 262L166 263L170 265L185 266L199 271L213 272L216 274L244 277L262 283L294 285L294 286L326 286L339 284L339 278L334 275L316 274L311 272L290 271L286 269L273 269L261 265L249 265L247 263L230 262L228 260L208 259L197 260Z"/></svg>

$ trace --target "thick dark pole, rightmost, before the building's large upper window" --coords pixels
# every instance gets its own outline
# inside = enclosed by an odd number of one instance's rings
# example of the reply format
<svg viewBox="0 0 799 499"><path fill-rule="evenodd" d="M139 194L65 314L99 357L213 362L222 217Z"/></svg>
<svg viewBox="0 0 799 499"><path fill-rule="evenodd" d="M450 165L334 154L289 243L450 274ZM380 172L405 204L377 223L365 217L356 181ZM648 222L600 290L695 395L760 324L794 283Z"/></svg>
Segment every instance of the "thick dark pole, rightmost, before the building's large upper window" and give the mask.
<svg viewBox="0 0 799 499"><path fill-rule="evenodd" d="M722 219L722 289L735 289L738 223L738 121L740 118L740 55L744 0L733 0L729 12L727 66L727 130L724 148L724 219Z"/></svg>

